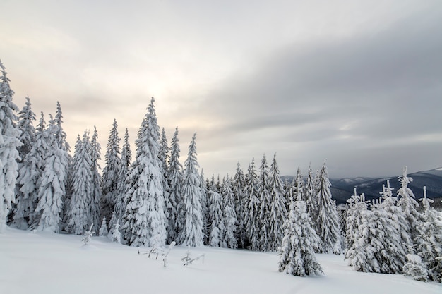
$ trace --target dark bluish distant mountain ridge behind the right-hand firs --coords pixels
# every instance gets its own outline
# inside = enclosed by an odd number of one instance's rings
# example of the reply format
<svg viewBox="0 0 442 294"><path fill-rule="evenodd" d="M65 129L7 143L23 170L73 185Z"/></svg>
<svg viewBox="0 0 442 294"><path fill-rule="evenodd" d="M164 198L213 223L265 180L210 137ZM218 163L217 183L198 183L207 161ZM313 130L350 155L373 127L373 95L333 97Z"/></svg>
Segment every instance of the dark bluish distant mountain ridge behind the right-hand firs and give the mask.
<svg viewBox="0 0 442 294"><path fill-rule="evenodd" d="M393 195L396 195L396 191L400 188L398 177L401 176L402 175L383 178L330 178L330 183L332 184L330 190L337 204L345 203L347 199L354 194L355 187L358 195L364 193L366 200L372 200L381 197L380 192L382 191L382 185L386 185L387 180L390 180L390 186L394 188ZM426 186L426 196L435 200L434 207L442 207L442 168L409 173L408 176L413 178L413 181L408 184L408 187L414 193L416 200L422 198L423 187ZM292 180L293 178L293 176L282 176L282 180Z"/></svg>

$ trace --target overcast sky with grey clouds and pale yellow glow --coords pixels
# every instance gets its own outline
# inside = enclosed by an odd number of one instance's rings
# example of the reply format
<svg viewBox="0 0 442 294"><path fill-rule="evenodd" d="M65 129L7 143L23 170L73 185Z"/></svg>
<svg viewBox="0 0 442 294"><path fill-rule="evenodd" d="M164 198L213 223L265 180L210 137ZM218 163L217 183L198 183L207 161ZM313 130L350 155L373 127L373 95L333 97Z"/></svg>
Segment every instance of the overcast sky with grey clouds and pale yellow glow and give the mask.
<svg viewBox="0 0 442 294"><path fill-rule="evenodd" d="M442 1L0 1L14 102L61 103L73 148L114 118L134 142L150 97L205 176L277 153L281 175L442 166ZM134 150L133 150L134 152ZM102 166L103 167L103 166Z"/></svg>

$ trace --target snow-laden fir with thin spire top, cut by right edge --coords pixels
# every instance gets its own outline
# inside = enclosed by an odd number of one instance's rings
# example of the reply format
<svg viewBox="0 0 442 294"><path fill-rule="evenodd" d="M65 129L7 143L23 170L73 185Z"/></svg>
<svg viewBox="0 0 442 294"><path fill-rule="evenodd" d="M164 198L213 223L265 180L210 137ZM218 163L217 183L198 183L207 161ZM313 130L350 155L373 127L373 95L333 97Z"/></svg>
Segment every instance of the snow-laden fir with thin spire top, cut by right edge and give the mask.
<svg viewBox="0 0 442 294"><path fill-rule="evenodd" d="M424 197L420 199L425 209L424 220L419 223L417 231L416 253L422 258L428 276L432 281L442 283L442 224L441 216L430 207L430 203L434 202L426 197L426 187L424 187Z"/></svg>

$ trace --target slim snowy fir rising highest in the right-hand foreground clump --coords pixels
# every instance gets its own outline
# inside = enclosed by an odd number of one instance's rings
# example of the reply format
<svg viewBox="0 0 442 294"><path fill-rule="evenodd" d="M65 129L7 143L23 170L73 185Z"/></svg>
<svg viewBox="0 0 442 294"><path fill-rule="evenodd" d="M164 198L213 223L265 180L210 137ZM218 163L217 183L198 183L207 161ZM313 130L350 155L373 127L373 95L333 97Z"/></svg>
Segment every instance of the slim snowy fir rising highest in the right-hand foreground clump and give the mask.
<svg viewBox="0 0 442 294"><path fill-rule="evenodd" d="M414 194L410 188L408 188L408 184L412 182L413 178L407 176L407 166L404 168L404 173L402 177L398 177L400 181L401 187L398 190L398 207L402 208L402 211L405 215L405 220L408 223L408 228L410 231L410 237L412 238L412 242L415 243L418 238L417 228L420 223L422 223L422 215L417 211L419 208L419 203L414 200Z"/></svg>

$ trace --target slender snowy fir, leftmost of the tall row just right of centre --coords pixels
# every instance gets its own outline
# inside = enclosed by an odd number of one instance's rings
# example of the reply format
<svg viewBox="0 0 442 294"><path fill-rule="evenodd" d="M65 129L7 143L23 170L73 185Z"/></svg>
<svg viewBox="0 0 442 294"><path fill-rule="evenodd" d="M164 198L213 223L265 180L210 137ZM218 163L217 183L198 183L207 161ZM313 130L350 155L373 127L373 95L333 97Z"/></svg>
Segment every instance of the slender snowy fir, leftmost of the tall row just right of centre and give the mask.
<svg viewBox="0 0 442 294"><path fill-rule="evenodd" d="M235 200L234 202L235 213L237 214L237 220L238 220L238 228L235 238L237 238L238 240L238 246L240 248L245 248L246 225L244 222L244 204L246 204L247 197L244 197L245 178L244 178L244 171L242 171L239 162L237 164L237 171L234 175L232 185L233 185L232 190Z"/></svg>

